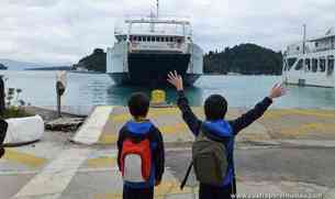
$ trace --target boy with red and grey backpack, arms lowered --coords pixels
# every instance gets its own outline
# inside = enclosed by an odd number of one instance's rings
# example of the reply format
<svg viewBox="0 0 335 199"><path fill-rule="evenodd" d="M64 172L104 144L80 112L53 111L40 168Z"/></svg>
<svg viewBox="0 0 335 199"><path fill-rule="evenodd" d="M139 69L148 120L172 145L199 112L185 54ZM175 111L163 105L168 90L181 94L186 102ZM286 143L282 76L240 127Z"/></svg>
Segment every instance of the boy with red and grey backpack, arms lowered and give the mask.
<svg viewBox="0 0 335 199"><path fill-rule="evenodd" d="M165 151L159 130L146 119L149 99L133 93L129 110L133 120L120 130L118 166L123 177L123 199L153 199L165 168Z"/></svg>

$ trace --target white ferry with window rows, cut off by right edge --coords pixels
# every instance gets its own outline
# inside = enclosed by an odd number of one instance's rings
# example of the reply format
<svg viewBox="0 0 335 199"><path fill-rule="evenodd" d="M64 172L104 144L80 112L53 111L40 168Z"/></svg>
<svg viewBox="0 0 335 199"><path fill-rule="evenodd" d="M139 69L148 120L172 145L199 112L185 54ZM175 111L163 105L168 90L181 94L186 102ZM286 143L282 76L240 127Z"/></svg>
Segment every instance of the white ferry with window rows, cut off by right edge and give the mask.
<svg viewBox="0 0 335 199"><path fill-rule="evenodd" d="M287 84L335 87L335 29L312 40L289 45L283 54L282 77Z"/></svg>

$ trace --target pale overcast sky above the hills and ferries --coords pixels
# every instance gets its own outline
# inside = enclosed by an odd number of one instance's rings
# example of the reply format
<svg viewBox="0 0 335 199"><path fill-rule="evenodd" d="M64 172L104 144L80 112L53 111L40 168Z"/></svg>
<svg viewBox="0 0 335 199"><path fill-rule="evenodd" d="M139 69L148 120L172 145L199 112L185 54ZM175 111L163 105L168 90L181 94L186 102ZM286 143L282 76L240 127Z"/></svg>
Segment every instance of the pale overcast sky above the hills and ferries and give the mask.
<svg viewBox="0 0 335 199"><path fill-rule="evenodd" d="M255 43L273 51L335 26L334 0L160 0L161 14L188 16L204 52ZM114 24L149 14L155 0L0 0L0 58L77 63L114 43Z"/></svg>

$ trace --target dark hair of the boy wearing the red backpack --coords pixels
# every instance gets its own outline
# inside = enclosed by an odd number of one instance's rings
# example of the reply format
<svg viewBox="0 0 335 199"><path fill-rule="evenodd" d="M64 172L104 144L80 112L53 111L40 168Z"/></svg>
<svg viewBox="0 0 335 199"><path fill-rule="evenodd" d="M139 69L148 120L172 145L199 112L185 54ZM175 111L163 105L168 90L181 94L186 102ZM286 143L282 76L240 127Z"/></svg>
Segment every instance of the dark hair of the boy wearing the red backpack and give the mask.
<svg viewBox="0 0 335 199"><path fill-rule="evenodd" d="M135 92L129 99L127 106L133 117L146 117L150 100L143 92Z"/></svg>

